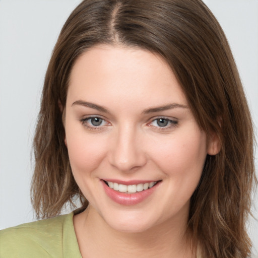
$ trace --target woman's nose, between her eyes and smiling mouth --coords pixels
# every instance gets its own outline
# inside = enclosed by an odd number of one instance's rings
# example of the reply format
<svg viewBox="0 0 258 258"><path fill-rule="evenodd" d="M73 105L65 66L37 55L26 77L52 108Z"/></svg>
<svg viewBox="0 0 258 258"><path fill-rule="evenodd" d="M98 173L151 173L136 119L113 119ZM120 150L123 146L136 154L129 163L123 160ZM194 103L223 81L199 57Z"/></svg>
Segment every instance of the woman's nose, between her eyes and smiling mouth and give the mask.
<svg viewBox="0 0 258 258"><path fill-rule="evenodd" d="M115 133L110 149L109 162L117 170L133 172L147 162L143 141L132 126L123 126Z"/></svg>

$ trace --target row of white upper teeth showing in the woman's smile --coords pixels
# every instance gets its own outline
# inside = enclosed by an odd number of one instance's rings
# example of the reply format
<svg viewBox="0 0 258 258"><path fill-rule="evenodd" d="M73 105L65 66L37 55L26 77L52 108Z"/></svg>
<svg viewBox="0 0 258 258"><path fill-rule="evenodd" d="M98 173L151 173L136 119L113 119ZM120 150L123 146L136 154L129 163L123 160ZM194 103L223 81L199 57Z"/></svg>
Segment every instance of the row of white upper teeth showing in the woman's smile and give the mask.
<svg viewBox="0 0 258 258"><path fill-rule="evenodd" d="M153 187L156 183L157 183L157 181L150 182L150 183L125 185L125 184L118 184L118 183L107 181L107 184L110 188L112 188L116 191L119 191L119 192L126 192L126 193L135 193L135 192L147 190L147 189Z"/></svg>

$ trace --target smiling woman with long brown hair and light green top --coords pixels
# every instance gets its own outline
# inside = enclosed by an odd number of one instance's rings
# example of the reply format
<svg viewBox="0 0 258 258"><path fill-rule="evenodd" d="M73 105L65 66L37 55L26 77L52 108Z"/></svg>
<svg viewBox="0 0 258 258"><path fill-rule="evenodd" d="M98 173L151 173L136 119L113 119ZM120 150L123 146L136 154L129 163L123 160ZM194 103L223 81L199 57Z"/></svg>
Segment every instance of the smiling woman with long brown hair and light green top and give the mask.
<svg viewBox="0 0 258 258"><path fill-rule="evenodd" d="M32 183L39 218L83 206L2 231L0 256L248 257L252 146L201 1L83 1L46 73Z"/></svg>

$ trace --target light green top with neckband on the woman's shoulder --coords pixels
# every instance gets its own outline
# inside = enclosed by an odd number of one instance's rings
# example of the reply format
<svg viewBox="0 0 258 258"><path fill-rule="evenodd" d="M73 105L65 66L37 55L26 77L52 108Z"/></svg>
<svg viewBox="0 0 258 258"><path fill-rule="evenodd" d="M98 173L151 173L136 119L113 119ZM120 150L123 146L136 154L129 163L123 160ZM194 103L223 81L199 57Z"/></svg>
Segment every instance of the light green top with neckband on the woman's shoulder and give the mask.
<svg viewBox="0 0 258 258"><path fill-rule="evenodd" d="M74 213L39 220L0 231L1 258L82 258Z"/></svg>

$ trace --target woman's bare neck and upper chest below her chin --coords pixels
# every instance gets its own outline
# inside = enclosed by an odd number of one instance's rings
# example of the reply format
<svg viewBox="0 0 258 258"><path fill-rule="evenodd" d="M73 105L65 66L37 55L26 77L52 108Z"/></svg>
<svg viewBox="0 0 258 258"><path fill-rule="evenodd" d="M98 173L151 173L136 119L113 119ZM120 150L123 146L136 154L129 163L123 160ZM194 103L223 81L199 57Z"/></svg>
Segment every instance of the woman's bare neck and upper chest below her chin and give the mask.
<svg viewBox="0 0 258 258"><path fill-rule="evenodd" d="M173 222L165 221L143 232L132 233L111 228L91 206L74 216L83 258L194 258L195 250L191 250L185 236L186 222L179 218Z"/></svg>

